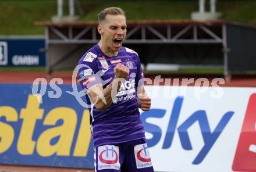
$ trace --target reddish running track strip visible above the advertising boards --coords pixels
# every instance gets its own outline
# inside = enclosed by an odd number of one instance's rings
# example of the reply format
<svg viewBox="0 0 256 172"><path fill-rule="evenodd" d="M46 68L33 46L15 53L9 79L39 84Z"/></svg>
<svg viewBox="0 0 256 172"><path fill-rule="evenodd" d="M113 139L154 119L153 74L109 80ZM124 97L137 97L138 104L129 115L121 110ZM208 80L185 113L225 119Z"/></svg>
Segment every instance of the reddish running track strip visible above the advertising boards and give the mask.
<svg viewBox="0 0 256 172"><path fill-rule="evenodd" d="M145 77L148 77L152 80L152 84L155 82L154 78L158 75L146 75ZM2 72L0 73L0 83L27 83L32 84L33 81L36 78L45 78L47 80L47 83L52 78L62 78L63 84L72 84L72 73L70 72L54 72L51 74L51 76L47 76L47 73L45 72ZM218 75L161 75L161 78L163 78L163 81L158 83L157 85L164 85L166 82L166 78L170 78L171 81L167 82L168 85L184 85L182 83L182 78L187 79L193 79L194 83L189 84L190 86L195 85L195 81L198 78L207 78L209 80L209 84L211 86L211 82L214 78L223 78L223 76ZM173 83L173 79L176 78L179 79L179 83ZM155 82L157 83L157 82ZM151 85L150 83L148 83ZM225 84L219 84L223 87L256 87L256 76L233 76L230 81L225 80Z"/></svg>

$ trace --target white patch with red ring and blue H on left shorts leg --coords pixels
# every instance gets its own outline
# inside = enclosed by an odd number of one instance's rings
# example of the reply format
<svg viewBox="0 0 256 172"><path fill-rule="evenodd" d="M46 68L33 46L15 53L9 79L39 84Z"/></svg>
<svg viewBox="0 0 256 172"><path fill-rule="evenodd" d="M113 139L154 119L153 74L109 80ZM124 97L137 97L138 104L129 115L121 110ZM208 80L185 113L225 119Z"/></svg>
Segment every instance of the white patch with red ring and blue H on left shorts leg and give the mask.
<svg viewBox="0 0 256 172"><path fill-rule="evenodd" d="M98 170L103 169L120 169L118 146L104 145L98 147Z"/></svg>

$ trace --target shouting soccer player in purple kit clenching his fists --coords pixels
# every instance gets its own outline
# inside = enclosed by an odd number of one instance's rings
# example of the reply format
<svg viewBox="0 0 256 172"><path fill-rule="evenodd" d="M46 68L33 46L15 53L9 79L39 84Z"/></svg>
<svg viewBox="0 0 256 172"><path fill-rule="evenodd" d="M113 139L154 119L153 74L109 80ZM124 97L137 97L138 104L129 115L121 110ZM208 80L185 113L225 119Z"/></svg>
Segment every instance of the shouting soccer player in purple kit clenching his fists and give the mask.
<svg viewBox="0 0 256 172"><path fill-rule="evenodd" d="M125 13L106 8L98 22L101 40L79 60L84 67L78 73L91 105L95 171L154 171L138 111L150 110L151 99L137 53L122 46Z"/></svg>

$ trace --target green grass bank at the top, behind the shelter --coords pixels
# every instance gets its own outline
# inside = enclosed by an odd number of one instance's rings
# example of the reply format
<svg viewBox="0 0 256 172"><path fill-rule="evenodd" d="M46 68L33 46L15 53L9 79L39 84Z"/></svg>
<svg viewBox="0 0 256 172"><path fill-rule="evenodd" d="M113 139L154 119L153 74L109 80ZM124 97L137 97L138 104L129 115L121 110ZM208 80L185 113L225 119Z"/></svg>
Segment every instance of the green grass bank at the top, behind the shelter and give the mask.
<svg viewBox="0 0 256 172"><path fill-rule="evenodd" d="M68 13L65 2L65 14ZM190 13L198 10L197 0L187 1L99 1L80 0L83 14L80 20L97 20L97 13L107 6L119 6L127 20L190 19ZM44 34L44 27L34 26L35 21L50 21L56 15L56 0L0 0L0 35ZM206 5L209 8L209 4ZM217 10L222 19L256 24L256 1L218 1ZM79 10L76 10L78 12Z"/></svg>

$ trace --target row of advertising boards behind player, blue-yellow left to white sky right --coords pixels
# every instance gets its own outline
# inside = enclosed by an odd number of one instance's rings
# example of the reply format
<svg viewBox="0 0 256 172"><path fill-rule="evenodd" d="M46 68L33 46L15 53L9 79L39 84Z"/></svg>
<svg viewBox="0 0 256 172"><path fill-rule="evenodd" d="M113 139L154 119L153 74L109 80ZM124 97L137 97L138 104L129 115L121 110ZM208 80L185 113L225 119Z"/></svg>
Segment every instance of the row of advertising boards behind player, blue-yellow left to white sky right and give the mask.
<svg viewBox="0 0 256 172"><path fill-rule="evenodd" d="M94 168L89 113L72 85L47 85L42 97L32 84L0 88L0 164ZM141 120L155 171L256 171L255 88L146 89L152 106Z"/></svg>

